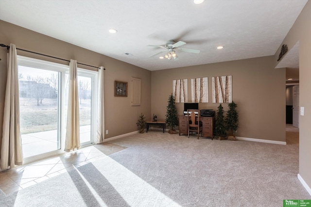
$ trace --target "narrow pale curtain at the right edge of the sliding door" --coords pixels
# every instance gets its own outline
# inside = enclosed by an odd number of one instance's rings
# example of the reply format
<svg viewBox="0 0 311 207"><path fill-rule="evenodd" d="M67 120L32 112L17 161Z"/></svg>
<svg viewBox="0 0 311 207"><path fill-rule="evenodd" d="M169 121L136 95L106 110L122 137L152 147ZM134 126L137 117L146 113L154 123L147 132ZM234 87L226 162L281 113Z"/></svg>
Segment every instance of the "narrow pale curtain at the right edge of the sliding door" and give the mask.
<svg viewBox="0 0 311 207"><path fill-rule="evenodd" d="M97 132L95 143L104 142L104 67L98 73L98 98L97 98Z"/></svg>

